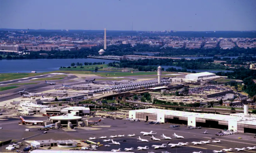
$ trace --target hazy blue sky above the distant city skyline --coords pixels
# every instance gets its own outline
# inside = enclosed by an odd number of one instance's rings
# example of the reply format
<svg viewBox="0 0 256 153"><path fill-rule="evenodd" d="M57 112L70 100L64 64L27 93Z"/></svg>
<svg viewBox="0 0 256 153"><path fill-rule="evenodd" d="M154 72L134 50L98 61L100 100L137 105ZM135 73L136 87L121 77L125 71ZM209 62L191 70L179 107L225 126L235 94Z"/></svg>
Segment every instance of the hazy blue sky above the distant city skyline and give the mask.
<svg viewBox="0 0 256 153"><path fill-rule="evenodd" d="M256 30L256 0L0 0L0 28Z"/></svg>

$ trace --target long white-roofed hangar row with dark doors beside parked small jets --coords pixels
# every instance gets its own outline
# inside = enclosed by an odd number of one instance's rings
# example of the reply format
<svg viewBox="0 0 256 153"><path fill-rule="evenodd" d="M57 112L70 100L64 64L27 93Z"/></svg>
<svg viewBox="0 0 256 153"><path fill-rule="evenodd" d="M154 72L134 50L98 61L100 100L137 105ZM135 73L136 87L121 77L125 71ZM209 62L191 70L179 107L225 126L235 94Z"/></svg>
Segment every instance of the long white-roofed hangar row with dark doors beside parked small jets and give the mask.
<svg viewBox="0 0 256 153"><path fill-rule="evenodd" d="M246 106L248 105L245 105L245 107ZM256 134L256 117L251 117L251 115L248 114L248 109L246 108L245 113L231 114L230 116L148 108L129 111L129 118L185 124L188 126L229 129L239 133Z"/></svg>

